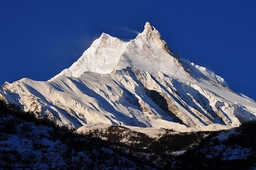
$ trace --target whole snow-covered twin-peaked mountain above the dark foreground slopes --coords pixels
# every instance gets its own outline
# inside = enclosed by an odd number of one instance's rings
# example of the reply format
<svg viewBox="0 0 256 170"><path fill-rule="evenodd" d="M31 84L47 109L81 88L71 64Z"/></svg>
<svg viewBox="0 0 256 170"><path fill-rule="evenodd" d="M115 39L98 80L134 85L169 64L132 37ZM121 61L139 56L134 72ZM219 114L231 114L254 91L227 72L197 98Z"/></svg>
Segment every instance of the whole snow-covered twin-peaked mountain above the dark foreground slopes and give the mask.
<svg viewBox="0 0 256 170"><path fill-rule="evenodd" d="M6 82L0 98L76 129L95 123L184 129L256 120L254 100L179 58L149 22L128 42L102 33L51 80Z"/></svg>

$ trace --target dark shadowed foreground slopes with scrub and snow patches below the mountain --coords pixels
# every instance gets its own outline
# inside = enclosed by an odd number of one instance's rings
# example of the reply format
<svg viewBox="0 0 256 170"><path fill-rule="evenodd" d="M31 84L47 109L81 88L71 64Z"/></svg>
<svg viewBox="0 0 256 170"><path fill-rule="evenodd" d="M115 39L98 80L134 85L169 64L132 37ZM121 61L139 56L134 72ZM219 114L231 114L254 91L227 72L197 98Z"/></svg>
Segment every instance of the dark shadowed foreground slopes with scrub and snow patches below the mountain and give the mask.
<svg viewBox="0 0 256 170"><path fill-rule="evenodd" d="M111 124L75 131L2 102L0 121L2 169L256 168L255 121L222 131L133 131Z"/></svg>

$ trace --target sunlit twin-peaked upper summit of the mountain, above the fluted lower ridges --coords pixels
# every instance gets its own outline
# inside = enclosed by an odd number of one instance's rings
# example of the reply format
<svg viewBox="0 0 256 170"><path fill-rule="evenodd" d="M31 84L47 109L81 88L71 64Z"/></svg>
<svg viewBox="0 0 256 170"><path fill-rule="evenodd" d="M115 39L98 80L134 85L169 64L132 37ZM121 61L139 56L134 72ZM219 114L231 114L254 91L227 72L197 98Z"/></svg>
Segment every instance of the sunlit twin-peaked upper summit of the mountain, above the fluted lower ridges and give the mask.
<svg viewBox="0 0 256 170"><path fill-rule="evenodd" d="M158 30L146 22L143 32L129 42L102 33L85 50L79 60L55 77L59 77L59 75L80 77L88 71L106 74L126 67L137 67L149 72L162 70L165 73L173 73L173 70L179 68L173 66L171 70L169 69L170 66L177 63L177 61L172 62L172 59L170 60L172 58L170 55L175 56L172 55L166 42L161 39ZM156 63L158 64L155 65ZM166 65L166 63L169 64ZM173 69L174 67L176 69ZM184 77L183 74L182 77Z"/></svg>

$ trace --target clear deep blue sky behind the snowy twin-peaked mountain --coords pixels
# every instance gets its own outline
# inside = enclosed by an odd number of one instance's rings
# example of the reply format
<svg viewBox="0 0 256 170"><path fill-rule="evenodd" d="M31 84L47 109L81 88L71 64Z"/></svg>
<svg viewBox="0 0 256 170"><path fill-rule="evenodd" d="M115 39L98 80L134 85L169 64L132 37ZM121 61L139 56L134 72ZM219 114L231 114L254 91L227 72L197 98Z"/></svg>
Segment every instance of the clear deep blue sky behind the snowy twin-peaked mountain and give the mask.
<svg viewBox="0 0 256 170"><path fill-rule="evenodd" d="M0 84L46 81L102 32L133 39L149 21L172 50L256 100L256 1L0 1Z"/></svg>

